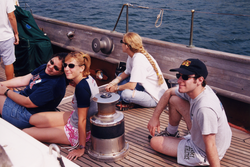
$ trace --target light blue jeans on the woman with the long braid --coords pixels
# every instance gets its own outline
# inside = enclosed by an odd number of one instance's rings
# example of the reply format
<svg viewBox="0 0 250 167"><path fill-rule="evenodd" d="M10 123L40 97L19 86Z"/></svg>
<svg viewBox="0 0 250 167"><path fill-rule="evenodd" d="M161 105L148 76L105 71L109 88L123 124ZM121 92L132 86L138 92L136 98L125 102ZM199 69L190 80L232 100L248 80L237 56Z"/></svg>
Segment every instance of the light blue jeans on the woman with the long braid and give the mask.
<svg viewBox="0 0 250 167"><path fill-rule="evenodd" d="M130 77L127 77L118 85L124 85L125 83L128 83L129 80ZM143 86L138 83L134 90L125 89L123 91L118 91L117 93L121 96L121 100L126 103L134 103L142 107L156 107L157 105L154 98L145 91Z"/></svg>

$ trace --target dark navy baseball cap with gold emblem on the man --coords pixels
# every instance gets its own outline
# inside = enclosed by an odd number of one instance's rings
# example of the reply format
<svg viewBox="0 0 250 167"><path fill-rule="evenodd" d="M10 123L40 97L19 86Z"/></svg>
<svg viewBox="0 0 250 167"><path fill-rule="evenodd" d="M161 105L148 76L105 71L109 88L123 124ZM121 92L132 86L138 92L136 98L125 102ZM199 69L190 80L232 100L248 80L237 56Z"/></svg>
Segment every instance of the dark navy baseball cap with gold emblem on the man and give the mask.
<svg viewBox="0 0 250 167"><path fill-rule="evenodd" d="M206 79L208 72L206 65L199 59L187 59L181 63L180 68L170 69L170 71L178 71L183 75L196 74Z"/></svg>

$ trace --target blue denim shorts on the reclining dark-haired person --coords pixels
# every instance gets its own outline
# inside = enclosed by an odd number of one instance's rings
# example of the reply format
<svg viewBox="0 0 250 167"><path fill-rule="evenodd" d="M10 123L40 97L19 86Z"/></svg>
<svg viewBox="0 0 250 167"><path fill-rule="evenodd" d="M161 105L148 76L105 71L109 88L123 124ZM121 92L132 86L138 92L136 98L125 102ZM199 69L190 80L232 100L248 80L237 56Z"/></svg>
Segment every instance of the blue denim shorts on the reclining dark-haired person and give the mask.
<svg viewBox="0 0 250 167"><path fill-rule="evenodd" d="M24 129L32 126L29 123L31 115L25 107L18 105L8 97L6 98L2 110L4 120L20 129Z"/></svg>

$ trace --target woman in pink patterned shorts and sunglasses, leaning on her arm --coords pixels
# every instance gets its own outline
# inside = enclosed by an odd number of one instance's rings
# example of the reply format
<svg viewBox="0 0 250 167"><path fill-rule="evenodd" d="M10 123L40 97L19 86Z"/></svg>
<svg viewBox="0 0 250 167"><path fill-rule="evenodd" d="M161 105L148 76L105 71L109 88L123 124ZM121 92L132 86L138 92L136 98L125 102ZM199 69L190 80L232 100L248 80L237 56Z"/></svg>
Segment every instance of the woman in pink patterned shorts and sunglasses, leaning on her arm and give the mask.
<svg viewBox="0 0 250 167"><path fill-rule="evenodd" d="M82 52L69 53L65 58L64 72L72 80L75 93L72 112L43 112L30 118L35 127L24 129L37 140L48 143L70 144L76 147L67 158L75 160L85 152L90 138L90 116L97 113L97 104L92 97L99 93L98 86L90 74L91 60Z"/></svg>

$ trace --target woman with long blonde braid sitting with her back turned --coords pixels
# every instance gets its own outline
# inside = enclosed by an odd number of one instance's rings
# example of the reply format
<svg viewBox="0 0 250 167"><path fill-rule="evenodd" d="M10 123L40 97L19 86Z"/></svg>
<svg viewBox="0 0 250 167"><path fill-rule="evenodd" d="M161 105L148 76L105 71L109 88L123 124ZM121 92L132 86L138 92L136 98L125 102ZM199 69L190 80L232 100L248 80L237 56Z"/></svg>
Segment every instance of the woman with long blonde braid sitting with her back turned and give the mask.
<svg viewBox="0 0 250 167"><path fill-rule="evenodd" d="M141 37L128 32L121 40L128 54L126 70L106 86L107 92L118 92L125 103L156 107L168 89L155 59L144 49Z"/></svg>

